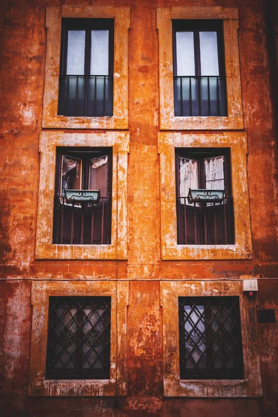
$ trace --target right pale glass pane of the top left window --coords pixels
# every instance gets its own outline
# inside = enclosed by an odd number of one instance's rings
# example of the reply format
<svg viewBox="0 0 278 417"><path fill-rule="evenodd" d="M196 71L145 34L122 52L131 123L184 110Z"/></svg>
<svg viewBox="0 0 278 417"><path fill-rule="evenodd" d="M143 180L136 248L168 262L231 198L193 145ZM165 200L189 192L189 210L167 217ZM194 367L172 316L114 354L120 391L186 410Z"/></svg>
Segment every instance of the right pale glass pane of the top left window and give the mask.
<svg viewBox="0 0 278 417"><path fill-rule="evenodd" d="M109 31L91 33L91 75L108 75Z"/></svg>

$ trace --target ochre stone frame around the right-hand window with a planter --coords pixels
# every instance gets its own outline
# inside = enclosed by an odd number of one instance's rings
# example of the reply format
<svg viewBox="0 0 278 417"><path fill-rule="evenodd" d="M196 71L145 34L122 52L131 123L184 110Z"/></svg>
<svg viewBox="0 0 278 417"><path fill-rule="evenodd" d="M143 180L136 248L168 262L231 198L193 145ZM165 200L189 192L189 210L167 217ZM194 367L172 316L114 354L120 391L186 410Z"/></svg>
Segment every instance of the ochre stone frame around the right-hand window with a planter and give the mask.
<svg viewBox="0 0 278 417"><path fill-rule="evenodd" d="M178 245L175 149L231 149L231 189L234 197L234 245ZM250 205L247 184L247 135L225 133L158 133L161 181L161 256L164 260L252 259Z"/></svg>

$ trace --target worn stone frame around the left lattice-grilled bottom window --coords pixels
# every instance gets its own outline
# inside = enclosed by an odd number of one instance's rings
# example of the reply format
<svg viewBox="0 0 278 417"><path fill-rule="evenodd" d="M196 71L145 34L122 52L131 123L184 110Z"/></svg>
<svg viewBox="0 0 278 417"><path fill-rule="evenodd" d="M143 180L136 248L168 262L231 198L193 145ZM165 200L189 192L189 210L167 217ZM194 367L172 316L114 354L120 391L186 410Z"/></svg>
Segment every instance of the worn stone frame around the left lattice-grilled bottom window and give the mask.
<svg viewBox="0 0 278 417"><path fill-rule="evenodd" d="M110 379L45 379L49 296L111 297ZM121 281L40 281L32 283L31 355L28 377L30 396L126 395L126 306L129 285Z"/></svg>

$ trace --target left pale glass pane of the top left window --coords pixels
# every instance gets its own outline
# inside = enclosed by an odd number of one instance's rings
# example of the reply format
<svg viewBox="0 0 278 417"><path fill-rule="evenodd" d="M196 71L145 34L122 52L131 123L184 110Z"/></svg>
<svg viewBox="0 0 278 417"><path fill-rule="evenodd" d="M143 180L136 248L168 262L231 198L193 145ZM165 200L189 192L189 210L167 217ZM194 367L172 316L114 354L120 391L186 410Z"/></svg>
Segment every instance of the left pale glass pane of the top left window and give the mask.
<svg viewBox="0 0 278 417"><path fill-rule="evenodd" d="M85 31L68 31L67 75L84 75Z"/></svg>

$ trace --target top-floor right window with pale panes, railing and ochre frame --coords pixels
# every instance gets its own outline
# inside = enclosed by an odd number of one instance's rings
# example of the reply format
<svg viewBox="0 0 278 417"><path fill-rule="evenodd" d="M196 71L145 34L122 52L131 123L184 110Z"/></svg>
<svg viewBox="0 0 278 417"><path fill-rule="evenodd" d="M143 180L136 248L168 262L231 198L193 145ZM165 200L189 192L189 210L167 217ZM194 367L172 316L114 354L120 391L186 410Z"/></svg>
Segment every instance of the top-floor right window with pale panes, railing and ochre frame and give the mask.
<svg viewBox="0 0 278 417"><path fill-rule="evenodd" d="M156 9L162 130L243 129L238 9Z"/></svg>

